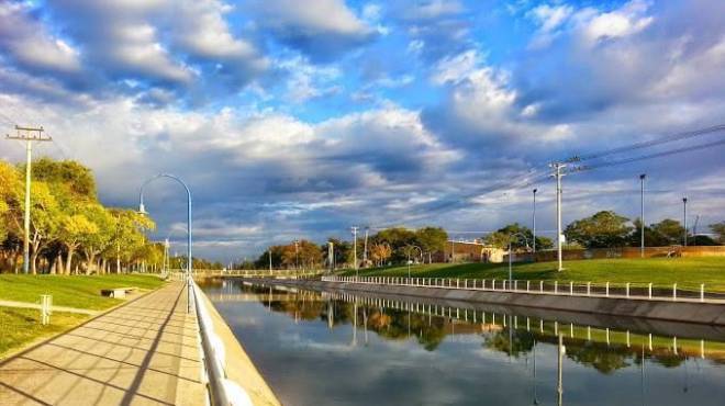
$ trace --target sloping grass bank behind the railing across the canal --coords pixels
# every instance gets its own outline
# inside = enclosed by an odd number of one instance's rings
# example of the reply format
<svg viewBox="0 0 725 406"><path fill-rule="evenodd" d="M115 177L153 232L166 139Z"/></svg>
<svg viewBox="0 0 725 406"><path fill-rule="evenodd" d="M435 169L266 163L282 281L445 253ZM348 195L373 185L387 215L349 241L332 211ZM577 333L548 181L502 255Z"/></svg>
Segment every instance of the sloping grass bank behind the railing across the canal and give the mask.
<svg viewBox="0 0 725 406"><path fill-rule="evenodd" d="M513 278L517 280L575 281L612 285L632 282L654 283L656 287L699 290L705 284L710 292L725 292L725 257L592 259L565 261L565 270L557 272L556 262L514 263ZM406 277L408 267L360 270L360 275ZM344 275L355 275L346 270ZM411 266L411 275L417 278L507 279L507 263L433 263Z"/></svg>

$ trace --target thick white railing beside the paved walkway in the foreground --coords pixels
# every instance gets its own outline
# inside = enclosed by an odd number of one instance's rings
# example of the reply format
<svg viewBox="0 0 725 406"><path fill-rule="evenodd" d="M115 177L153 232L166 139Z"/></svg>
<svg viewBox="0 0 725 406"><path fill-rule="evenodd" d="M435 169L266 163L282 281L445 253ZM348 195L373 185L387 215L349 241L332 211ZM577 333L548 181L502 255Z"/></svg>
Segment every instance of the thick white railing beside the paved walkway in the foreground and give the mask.
<svg viewBox="0 0 725 406"><path fill-rule="evenodd" d="M226 374L226 351L224 342L214 332L214 323L211 318L207 304L203 301L199 285L191 283L193 289L193 302L199 323L199 335L201 336L201 348L204 358L204 373L211 405L252 405L247 393L236 382L230 380Z"/></svg>

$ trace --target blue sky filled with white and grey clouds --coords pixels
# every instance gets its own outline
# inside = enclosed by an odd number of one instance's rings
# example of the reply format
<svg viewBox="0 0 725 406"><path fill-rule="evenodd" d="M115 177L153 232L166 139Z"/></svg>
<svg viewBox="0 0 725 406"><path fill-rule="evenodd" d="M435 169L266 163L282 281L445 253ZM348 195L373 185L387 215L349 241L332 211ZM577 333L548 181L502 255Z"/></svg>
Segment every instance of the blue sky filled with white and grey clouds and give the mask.
<svg viewBox="0 0 725 406"><path fill-rule="evenodd" d="M716 143L725 2L534 0L0 1L0 128L43 125L36 156L76 159L108 205L159 172L193 193L194 252L252 258L349 227L480 237L555 228L547 163ZM699 232L725 219L725 146L572 171L564 222L615 210ZM23 146L0 144L20 161ZM186 198L145 191L183 251ZM469 233L473 232L473 233Z"/></svg>

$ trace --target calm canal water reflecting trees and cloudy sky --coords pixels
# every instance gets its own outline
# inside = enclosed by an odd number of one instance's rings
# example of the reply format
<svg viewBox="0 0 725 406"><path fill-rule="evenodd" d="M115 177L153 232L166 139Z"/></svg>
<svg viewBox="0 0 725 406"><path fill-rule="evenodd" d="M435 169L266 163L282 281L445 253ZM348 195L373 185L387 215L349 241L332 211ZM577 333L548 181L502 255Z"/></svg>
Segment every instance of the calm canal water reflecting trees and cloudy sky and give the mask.
<svg viewBox="0 0 725 406"><path fill-rule="evenodd" d="M725 405L715 328L202 287L286 405Z"/></svg>

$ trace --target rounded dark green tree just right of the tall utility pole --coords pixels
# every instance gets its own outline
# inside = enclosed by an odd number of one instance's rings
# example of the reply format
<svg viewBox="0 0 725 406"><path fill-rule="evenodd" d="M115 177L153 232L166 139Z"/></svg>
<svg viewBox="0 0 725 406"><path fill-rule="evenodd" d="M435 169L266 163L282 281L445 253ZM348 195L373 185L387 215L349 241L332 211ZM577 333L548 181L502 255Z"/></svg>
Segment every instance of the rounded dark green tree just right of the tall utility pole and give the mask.
<svg viewBox="0 0 725 406"><path fill-rule="evenodd" d="M612 211L603 211L569 224L565 235L587 248L622 247L632 232L626 225L628 221Z"/></svg>

